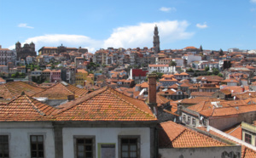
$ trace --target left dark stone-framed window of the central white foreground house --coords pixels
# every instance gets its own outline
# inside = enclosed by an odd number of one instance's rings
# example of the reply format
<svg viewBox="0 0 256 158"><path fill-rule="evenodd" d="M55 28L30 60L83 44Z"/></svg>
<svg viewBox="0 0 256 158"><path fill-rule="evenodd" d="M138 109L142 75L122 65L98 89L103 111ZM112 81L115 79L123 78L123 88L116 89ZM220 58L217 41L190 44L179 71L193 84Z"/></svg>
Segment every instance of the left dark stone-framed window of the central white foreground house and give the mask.
<svg viewBox="0 0 256 158"><path fill-rule="evenodd" d="M75 145L77 158L93 158L95 157L95 138L93 137L76 137Z"/></svg>

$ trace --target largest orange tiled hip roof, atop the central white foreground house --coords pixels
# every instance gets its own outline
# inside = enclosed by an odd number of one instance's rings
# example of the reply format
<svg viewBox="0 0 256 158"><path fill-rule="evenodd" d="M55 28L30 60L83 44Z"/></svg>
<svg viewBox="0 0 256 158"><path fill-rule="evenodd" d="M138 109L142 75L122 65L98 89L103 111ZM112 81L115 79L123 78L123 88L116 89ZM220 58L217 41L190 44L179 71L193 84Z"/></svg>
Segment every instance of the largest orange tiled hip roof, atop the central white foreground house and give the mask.
<svg viewBox="0 0 256 158"><path fill-rule="evenodd" d="M157 121L142 100L111 87L102 87L59 107L63 109L55 113L57 121Z"/></svg>

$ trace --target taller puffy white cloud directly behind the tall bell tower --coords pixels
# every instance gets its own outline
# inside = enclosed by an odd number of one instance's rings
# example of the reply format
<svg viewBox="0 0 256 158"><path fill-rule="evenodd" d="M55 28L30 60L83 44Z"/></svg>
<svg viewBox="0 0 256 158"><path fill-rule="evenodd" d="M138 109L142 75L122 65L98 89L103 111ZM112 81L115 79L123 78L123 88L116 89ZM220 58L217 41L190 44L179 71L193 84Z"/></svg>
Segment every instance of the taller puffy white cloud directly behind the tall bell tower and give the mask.
<svg viewBox="0 0 256 158"><path fill-rule="evenodd" d="M189 26L187 21L161 21L156 23L140 23L119 27L113 30L112 35L104 41L104 48L137 48L152 46L154 25L157 25L160 32L160 42L174 42L188 39L194 35L187 32Z"/></svg>

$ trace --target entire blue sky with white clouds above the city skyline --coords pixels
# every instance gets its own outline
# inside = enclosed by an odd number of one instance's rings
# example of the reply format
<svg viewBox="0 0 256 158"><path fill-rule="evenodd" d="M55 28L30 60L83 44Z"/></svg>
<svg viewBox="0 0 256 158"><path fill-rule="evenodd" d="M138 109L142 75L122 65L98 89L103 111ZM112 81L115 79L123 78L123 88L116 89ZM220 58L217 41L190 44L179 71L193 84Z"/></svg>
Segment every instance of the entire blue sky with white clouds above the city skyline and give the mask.
<svg viewBox="0 0 256 158"><path fill-rule="evenodd" d="M0 0L0 44L35 42L36 49L81 46L256 49L256 0Z"/></svg>

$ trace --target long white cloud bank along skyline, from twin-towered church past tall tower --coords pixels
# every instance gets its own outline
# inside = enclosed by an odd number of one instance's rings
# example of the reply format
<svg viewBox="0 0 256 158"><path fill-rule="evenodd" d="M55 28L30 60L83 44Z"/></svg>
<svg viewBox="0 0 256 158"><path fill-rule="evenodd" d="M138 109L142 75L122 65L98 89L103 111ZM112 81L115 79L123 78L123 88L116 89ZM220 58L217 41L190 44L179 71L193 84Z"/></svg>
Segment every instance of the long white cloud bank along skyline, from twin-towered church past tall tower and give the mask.
<svg viewBox="0 0 256 158"><path fill-rule="evenodd" d="M36 50L42 47L58 47L61 43L67 47L88 48L95 52L99 48L150 48L153 45L154 25L158 26L160 43L175 42L193 37L194 32L186 31L189 23L183 21L160 21L154 23L140 23L113 29L113 33L105 40L95 40L82 35L52 34L26 39L24 43L34 42ZM10 46L15 48L15 45Z"/></svg>

